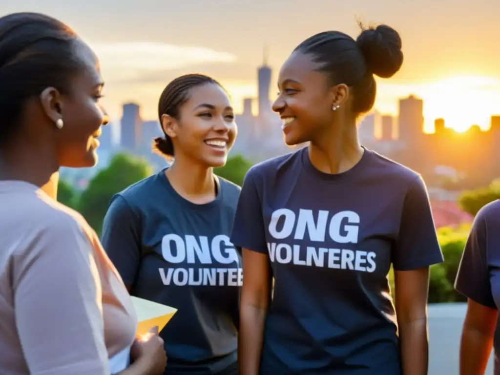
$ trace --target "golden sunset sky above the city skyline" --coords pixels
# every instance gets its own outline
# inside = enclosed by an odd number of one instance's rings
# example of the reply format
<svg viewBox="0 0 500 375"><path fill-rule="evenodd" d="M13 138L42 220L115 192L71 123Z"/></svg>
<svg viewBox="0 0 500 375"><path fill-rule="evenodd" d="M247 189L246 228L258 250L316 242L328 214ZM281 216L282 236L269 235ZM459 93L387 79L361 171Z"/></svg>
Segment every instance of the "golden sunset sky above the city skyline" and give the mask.
<svg viewBox="0 0 500 375"><path fill-rule="evenodd" d="M483 129L500 113L500 1L498 0L15 0L4 13L40 11L73 27L97 52L106 81L103 104L114 119L120 103L141 105L156 118L168 81L187 72L214 76L241 110L256 94L263 45L273 68L271 98L281 63L313 33L337 29L355 37L356 17L396 28L405 61L390 79L378 80L376 109L396 114L397 99L424 100L425 128ZM69 5L70 4L70 5ZM304 6L306 4L306 6Z"/></svg>

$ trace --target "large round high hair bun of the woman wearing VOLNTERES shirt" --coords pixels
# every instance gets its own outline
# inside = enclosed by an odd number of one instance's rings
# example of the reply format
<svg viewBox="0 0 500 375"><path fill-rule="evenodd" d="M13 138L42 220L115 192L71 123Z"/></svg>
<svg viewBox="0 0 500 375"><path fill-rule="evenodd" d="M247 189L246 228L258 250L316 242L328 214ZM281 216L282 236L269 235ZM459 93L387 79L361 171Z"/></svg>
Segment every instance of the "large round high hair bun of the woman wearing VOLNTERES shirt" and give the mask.
<svg viewBox="0 0 500 375"><path fill-rule="evenodd" d="M401 37L392 27L381 24L363 29L356 43L368 69L381 78L394 75L403 63Z"/></svg>

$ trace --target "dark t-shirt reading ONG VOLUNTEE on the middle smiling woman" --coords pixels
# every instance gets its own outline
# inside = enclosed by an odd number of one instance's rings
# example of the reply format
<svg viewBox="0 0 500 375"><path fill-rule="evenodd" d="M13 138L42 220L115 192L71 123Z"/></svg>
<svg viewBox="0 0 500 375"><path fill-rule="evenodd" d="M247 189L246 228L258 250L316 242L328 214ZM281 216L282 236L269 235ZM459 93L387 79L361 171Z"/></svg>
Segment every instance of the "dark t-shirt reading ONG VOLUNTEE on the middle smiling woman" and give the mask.
<svg viewBox="0 0 500 375"><path fill-rule="evenodd" d="M132 295L178 309L160 332L165 374L236 369L242 269L229 235L239 191L218 178L215 200L195 204L162 170L111 200L102 245L123 282Z"/></svg>

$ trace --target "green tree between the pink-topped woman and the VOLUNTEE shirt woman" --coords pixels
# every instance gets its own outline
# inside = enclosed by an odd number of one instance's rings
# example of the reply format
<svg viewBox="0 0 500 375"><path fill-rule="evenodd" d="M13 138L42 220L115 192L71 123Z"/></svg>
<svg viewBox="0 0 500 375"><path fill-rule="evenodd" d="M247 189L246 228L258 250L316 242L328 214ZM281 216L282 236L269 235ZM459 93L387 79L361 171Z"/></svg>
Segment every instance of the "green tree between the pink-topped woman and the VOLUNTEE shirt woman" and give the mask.
<svg viewBox="0 0 500 375"><path fill-rule="evenodd" d="M145 159L125 153L116 154L109 165L89 181L80 196L78 211L100 235L111 197L151 173L151 167Z"/></svg>

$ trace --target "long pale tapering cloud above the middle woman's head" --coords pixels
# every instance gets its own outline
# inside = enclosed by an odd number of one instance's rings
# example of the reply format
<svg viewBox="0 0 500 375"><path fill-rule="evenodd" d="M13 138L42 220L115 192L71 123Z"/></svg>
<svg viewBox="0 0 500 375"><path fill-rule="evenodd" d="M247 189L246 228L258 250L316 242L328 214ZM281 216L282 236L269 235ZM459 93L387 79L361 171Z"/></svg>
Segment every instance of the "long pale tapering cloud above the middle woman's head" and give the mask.
<svg viewBox="0 0 500 375"><path fill-rule="evenodd" d="M105 80L134 80L203 63L232 63L236 56L210 48L160 42L89 43Z"/></svg>

